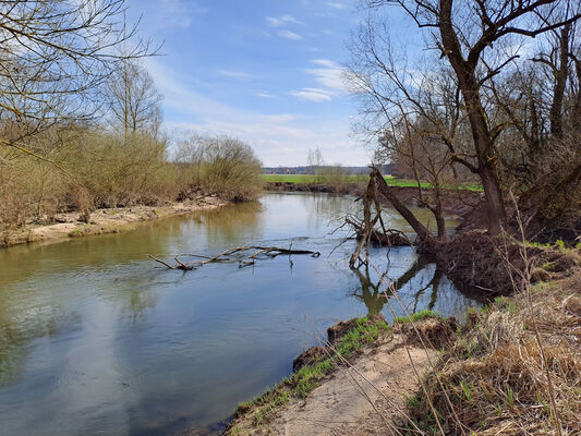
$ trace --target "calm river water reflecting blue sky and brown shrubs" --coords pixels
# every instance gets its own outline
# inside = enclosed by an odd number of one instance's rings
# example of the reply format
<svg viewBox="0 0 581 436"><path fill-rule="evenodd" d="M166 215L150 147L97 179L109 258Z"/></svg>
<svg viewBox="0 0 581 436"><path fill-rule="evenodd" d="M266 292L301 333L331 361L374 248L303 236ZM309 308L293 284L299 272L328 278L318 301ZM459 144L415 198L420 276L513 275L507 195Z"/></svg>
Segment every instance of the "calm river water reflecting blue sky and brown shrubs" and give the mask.
<svg viewBox="0 0 581 436"><path fill-rule="evenodd" d="M350 270L354 241L338 246L344 232L329 233L354 207L267 194L122 234L0 250L0 434L215 434L338 320L389 320L402 305L461 317L479 304L409 247L372 250L374 267ZM395 215L387 225L409 230ZM249 243L322 255L185 274L147 257ZM397 299L378 294L384 271Z"/></svg>

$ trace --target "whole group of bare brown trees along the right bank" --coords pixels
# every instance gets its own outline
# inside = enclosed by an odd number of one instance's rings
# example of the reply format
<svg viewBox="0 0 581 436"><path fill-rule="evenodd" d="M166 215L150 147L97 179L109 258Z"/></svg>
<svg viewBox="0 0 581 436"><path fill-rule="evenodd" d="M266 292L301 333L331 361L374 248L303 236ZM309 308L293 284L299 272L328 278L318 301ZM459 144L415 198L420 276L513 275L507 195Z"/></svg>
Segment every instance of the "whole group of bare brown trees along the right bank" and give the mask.
<svg viewBox="0 0 581 436"><path fill-rule="evenodd" d="M484 187L493 234L581 230L581 3L366 0L351 41L356 130L376 159L429 182L419 193L441 219L441 186ZM390 9L424 46L400 48ZM412 27L413 28L413 27ZM440 235L445 234L441 229Z"/></svg>

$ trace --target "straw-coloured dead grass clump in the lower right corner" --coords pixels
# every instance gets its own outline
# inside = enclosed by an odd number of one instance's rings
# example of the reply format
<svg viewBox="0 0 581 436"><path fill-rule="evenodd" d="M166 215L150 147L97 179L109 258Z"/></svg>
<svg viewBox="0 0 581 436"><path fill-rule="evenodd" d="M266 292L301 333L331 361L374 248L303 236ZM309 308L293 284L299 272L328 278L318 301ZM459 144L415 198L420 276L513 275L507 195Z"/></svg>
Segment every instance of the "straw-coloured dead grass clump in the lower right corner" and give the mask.
<svg viewBox="0 0 581 436"><path fill-rule="evenodd" d="M581 318L571 288L579 282L578 270L472 313L425 393L409 401L416 425L435 433L429 400L449 435L558 434L554 410L560 434L581 434Z"/></svg>

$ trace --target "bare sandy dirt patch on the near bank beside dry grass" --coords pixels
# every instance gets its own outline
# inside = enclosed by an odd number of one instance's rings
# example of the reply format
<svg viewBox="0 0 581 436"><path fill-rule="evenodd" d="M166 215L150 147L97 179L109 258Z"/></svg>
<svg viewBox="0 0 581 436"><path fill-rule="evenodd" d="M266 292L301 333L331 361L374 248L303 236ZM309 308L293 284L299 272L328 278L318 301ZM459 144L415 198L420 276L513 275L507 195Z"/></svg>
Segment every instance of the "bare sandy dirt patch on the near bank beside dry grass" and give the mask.
<svg viewBox="0 0 581 436"><path fill-rule="evenodd" d="M404 343L402 335L395 335L366 348L351 367L338 368L305 400L281 407L269 423L238 422L242 428L238 434L391 435L387 423L401 416L406 396L419 388L416 373L424 374L428 358L436 358L434 350Z"/></svg>

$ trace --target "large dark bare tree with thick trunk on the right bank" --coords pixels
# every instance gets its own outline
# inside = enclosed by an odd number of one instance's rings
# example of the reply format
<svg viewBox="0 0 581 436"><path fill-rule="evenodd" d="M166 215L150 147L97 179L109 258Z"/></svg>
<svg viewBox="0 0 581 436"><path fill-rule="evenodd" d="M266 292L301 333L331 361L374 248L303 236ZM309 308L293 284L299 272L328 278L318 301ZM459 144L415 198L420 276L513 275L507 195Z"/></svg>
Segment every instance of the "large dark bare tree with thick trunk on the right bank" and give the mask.
<svg viewBox="0 0 581 436"><path fill-rule="evenodd" d="M568 0L366 0L370 8L396 5L428 32L433 48L452 68L462 96L471 136L469 157L450 148L456 161L476 173L483 184L488 230L497 234L507 226L507 211L498 172L497 140L507 128L495 123L485 86L519 58L499 52L509 37L532 38L574 23L581 17L578 2ZM534 20L538 19L541 20Z"/></svg>

